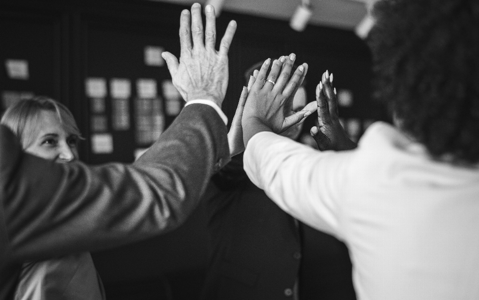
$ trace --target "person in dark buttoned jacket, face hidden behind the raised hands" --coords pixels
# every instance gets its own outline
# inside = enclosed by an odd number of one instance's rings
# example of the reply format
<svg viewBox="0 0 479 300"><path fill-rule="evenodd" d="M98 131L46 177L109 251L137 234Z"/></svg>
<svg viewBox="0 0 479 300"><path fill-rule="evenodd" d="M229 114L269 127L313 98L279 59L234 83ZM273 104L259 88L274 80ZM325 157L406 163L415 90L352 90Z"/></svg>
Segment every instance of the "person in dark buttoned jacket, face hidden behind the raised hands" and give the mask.
<svg viewBox="0 0 479 300"><path fill-rule="evenodd" d="M245 79L261 65L249 68ZM291 104L294 112L316 108L316 102L306 105L304 81ZM282 135L298 140L302 128L297 124ZM213 176L202 201L211 253L200 299L356 300L346 246L282 211L249 181L242 161L242 154L232 157Z"/></svg>

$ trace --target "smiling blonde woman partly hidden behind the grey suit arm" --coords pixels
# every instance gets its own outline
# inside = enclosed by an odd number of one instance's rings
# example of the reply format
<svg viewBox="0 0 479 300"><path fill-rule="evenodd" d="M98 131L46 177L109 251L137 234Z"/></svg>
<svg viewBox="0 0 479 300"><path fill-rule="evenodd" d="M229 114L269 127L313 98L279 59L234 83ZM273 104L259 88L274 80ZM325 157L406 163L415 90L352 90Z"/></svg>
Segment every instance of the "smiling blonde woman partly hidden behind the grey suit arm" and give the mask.
<svg viewBox="0 0 479 300"><path fill-rule="evenodd" d="M10 106L0 124L16 135L25 152L58 163L78 159L80 131L71 112L47 97ZM45 261L24 262L15 300L101 300L103 285L88 252Z"/></svg>

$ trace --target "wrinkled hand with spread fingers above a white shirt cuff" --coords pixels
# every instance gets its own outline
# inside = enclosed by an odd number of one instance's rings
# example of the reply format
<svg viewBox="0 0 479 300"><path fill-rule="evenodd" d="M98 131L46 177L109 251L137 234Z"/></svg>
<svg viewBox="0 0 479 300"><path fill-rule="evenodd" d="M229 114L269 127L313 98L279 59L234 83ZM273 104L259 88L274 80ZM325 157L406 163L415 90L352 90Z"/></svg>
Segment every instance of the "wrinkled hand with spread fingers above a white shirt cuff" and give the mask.
<svg viewBox="0 0 479 300"><path fill-rule="evenodd" d="M231 21L216 51L216 18L212 5L206 6L206 30L203 33L201 5L194 3L190 12L180 17L180 62L170 52L163 52L173 85L187 102L194 99L213 100L221 107L228 87L228 50L236 31ZM205 41L203 41L205 39Z"/></svg>

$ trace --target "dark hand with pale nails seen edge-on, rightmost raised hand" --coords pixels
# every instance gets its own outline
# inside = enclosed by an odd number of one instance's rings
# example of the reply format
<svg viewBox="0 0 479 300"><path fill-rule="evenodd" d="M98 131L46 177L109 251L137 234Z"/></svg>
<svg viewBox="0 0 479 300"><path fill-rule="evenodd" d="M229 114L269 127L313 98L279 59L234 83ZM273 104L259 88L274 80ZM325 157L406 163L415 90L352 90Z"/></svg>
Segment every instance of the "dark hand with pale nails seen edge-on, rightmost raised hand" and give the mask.
<svg viewBox="0 0 479 300"><path fill-rule="evenodd" d="M332 89L333 74L323 73L316 87L318 106L318 127L311 128L311 136L318 144L319 150L350 150L356 148L339 122L336 88Z"/></svg>

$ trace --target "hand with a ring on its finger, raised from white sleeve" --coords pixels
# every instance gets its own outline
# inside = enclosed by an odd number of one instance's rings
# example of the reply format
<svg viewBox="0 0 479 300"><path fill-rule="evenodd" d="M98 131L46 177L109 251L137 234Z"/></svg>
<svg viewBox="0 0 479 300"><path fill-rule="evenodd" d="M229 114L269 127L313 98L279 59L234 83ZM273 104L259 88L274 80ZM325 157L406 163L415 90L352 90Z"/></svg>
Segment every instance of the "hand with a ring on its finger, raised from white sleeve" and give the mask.
<svg viewBox="0 0 479 300"><path fill-rule="evenodd" d="M247 132L247 135L243 136L244 144L258 132L258 124L279 134L311 114L308 110L295 112L290 103L304 80L308 67L306 63L300 65L289 78L295 58L295 55L291 54L273 61L267 80L275 84L266 80L271 60L268 58L261 66L244 106L243 135Z"/></svg>

